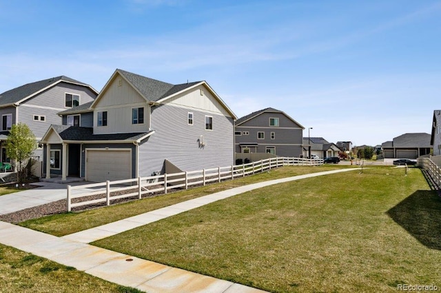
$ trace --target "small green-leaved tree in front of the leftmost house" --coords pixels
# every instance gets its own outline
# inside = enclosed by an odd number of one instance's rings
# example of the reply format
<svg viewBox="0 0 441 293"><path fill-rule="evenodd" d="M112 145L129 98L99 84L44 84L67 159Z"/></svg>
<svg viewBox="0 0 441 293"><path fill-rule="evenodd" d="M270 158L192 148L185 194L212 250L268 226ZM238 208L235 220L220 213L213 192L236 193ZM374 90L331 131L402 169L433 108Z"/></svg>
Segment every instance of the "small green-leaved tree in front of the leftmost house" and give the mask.
<svg viewBox="0 0 441 293"><path fill-rule="evenodd" d="M37 148L35 135L32 133L28 125L19 123L11 127L6 140L6 155L16 162L19 162L19 174L17 180L21 178L21 165L30 158L32 152Z"/></svg>

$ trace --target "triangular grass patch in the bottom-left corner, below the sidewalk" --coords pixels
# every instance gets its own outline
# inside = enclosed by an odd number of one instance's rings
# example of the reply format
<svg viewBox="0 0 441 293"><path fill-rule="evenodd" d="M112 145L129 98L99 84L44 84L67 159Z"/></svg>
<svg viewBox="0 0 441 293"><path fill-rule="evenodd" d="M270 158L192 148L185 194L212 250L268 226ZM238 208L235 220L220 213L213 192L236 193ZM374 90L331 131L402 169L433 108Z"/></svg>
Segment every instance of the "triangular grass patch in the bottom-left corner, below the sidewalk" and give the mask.
<svg viewBox="0 0 441 293"><path fill-rule="evenodd" d="M140 292L0 244L0 292Z"/></svg>

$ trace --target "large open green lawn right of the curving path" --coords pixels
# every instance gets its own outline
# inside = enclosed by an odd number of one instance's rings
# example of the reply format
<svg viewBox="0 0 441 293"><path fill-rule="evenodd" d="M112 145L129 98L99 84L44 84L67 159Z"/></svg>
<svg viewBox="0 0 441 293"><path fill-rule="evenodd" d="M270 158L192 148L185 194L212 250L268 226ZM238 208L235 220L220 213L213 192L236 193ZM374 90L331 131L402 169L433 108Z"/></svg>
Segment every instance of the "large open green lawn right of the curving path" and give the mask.
<svg viewBox="0 0 441 293"><path fill-rule="evenodd" d="M236 195L93 243L272 292L441 287L441 202L372 167Z"/></svg>

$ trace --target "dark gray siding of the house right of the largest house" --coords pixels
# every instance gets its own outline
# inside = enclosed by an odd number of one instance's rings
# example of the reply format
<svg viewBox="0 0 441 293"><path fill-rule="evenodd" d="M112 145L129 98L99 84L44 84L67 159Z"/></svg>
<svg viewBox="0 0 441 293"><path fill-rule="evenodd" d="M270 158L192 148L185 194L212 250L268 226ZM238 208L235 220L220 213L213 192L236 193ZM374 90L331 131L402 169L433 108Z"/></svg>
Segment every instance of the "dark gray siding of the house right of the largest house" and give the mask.
<svg viewBox="0 0 441 293"><path fill-rule="evenodd" d="M269 126L269 118L278 118L279 126ZM236 126L235 131L240 131L241 135L235 135L236 153L241 152L240 144L256 143L257 152L265 153L267 146L276 148L276 155L284 157L299 157L302 155L302 133L303 128L282 112L263 112ZM243 135L243 132L249 133ZM264 132L265 138L258 139L258 132ZM271 139L271 132L275 138ZM252 150L253 151L253 150Z"/></svg>

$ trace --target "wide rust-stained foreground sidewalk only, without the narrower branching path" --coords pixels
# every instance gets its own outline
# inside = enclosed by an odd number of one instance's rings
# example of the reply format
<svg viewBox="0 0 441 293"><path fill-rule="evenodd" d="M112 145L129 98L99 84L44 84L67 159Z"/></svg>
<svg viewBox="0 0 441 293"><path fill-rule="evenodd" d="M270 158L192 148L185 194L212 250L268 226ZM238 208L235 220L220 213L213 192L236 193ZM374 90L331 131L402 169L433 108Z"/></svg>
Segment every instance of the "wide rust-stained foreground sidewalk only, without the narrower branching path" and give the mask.
<svg viewBox="0 0 441 293"><path fill-rule="evenodd" d="M0 241L92 276L145 292L264 292L3 221L0 221Z"/></svg>

